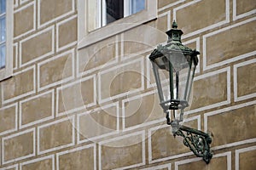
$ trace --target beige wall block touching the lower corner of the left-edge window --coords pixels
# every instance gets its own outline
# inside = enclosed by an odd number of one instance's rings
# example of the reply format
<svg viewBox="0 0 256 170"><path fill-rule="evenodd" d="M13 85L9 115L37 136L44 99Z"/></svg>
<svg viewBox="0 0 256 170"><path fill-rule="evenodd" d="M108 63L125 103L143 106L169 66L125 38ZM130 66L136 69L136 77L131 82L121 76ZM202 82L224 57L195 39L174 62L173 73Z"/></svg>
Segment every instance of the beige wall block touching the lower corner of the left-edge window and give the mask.
<svg viewBox="0 0 256 170"><path fill-rule="evenodd" d="M23 71L16 72L13 77L3 81L3 103L33 94L36 89L35 78L35 67L32 66ZM26 84L26 86L22 86L21 88L21 84Z"/></svg>

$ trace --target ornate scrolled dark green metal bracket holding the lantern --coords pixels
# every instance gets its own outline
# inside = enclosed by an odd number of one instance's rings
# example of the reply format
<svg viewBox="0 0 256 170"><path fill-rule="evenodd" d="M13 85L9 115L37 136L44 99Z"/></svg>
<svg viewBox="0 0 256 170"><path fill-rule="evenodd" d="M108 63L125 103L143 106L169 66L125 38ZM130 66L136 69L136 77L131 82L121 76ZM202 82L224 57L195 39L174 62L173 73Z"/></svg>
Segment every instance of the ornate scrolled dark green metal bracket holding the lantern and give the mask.
<svg viewBox="0 0 256 170"><path fill-rule="evenodd" d="M212 159L212 151L210 150L210 144L212 138L209 134L200 130L179 125L178 122L171 122L173 136L183 137L183 144L189 147L189 149L195 154L195 156L202 157L208 164Z"/></svg>

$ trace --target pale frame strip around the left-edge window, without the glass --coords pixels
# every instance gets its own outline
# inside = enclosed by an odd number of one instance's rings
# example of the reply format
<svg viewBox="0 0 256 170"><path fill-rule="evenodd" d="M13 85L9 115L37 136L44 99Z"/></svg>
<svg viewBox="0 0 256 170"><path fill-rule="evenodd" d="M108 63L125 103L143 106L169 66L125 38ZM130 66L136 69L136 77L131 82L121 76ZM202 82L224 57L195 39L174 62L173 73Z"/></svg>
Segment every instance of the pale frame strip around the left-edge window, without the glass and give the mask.
<svg viewBox="0 0 256 170"><path fill-rule="evenodd" d="M14 1L6 0L5 67L0 69L0 81L13 75Z"/></svg>

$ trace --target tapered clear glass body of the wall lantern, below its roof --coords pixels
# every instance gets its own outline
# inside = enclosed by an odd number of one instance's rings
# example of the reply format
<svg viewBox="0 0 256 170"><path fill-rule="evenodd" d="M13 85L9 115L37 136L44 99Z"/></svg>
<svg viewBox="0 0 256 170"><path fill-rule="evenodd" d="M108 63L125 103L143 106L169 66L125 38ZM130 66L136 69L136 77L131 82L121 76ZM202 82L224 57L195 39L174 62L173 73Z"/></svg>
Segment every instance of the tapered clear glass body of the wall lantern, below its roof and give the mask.
<svg viewBox="0 0 256 170"><path fill-rule="evenodd" d="M170 54L154 59L154 77L164 110L181 109L188 106L189 94L195 73L195 65L190 55Z"/></svg>

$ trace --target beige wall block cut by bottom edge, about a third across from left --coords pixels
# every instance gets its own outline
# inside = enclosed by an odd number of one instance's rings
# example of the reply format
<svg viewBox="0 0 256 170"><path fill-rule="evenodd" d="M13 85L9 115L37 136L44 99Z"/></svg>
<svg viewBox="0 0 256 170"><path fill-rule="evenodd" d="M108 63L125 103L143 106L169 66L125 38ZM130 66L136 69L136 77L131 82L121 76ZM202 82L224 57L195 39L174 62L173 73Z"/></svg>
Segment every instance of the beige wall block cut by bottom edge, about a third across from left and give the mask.
<svg viewBox="0 0 256 170"><path fill-rule="evenodd" d="M96 169L96 145L84 145L57 153L57 169Z"/></svg>

